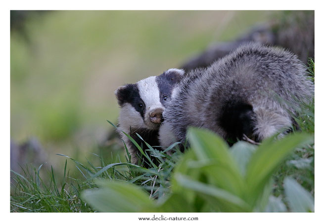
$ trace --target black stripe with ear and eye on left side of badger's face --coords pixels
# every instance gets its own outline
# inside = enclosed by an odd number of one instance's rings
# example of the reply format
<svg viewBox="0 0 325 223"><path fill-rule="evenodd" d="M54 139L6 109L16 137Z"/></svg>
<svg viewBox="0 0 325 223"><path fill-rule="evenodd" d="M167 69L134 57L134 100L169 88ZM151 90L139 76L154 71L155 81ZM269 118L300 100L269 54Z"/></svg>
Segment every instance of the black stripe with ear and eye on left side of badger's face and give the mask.
<svg viewBox="0 0 325 223"><path fill-rule="evenodd" d="M116 98L119 106L129 103L144 119L145 104L140 97L138 84L127 84L118 89Z"/></svg>

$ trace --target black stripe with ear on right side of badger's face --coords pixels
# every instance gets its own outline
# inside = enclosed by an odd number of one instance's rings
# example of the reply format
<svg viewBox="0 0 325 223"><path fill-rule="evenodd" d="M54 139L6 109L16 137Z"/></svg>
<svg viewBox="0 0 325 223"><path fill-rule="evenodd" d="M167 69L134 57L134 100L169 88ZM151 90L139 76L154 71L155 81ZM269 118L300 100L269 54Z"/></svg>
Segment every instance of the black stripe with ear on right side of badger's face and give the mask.
<svg viewBox="0 0 325 223"><path fill-rule="evenodd" d="M177 71L169 71L156 76L156 82L159 88L160 102L164 105L172 95L175 85L181 80L182 75Z"/></svg>

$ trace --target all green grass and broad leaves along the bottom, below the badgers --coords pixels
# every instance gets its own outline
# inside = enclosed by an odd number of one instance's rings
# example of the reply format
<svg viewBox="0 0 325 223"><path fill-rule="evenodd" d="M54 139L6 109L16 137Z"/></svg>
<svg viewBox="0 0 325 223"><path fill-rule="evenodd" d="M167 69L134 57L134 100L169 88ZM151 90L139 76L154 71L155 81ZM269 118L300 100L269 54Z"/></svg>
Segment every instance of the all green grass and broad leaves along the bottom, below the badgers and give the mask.
<svg viewBox="0 0 325 223"><path fill-rule="evenodd" d="M44 164L32 172L28 172L28 168L23 169L26 170L24 176L14 172L10 199L11 211L295 212L314 210L312 136L304 133L293 134L279 141L267 140L261 146L238 142L232 148L228 148L223 140L205 130L191 129L188 137L191 149L185 154L173 148L175 145L165 149L165 152L157 150L155 156L161 155L160 158L163 160L163 162L158 161L157 168L150 165L144 168L141 166L143 163L106 164L102 156L93 154L99 158L98 167L89 161L83 164L69 156L59 154L76 165L82 179L69 175L67 161L62 171L63 180L58 180L59 175L50 169L49 184L40 176ZM306 147L291 152L298 145L308 142ZM168 156L166 150L171 149L176 152ZM155 150L150 148L143 152L149 155ZM285 162L283 162L284 157L287 157ZM294 184L292 181L284 180L286 176L294 177L299 183ZM283 182L284 188L282 188Z"/></svg>

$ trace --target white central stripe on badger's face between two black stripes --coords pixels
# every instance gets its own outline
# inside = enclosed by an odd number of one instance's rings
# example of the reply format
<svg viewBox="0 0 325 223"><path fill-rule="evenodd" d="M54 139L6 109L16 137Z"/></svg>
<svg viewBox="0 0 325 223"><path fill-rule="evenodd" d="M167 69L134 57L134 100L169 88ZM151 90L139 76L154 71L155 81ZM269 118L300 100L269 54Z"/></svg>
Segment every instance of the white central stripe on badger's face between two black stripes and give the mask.
<svg viewBox="0 0 325 223"><path fill-rule="evenodd" d="M145 115L152 109L163 108L155 78L155 76L150 76L138 82L140 97L146 106Z"/></svg>

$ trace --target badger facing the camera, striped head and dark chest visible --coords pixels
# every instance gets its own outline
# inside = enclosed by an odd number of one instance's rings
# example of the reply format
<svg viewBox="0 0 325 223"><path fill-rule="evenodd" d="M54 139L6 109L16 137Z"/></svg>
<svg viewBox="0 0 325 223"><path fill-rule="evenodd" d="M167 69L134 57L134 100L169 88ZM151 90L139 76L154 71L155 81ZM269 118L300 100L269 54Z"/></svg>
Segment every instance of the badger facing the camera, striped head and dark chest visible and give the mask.
<svg viewBox="0 0 325 223"><path fill-rule="evenodd" d="M135 84L125 84L115 90L121 108L119 134L130 151L132 163L139 161L140 153L123 132L130 135L139 145L141 140L136 133L150 146L159 146L158 130L164 120L164 105L170 100L172 91L183 74L183 70L169 69L158 76L147 77ZM142 145L143 149L147 149Z"/></svg>

